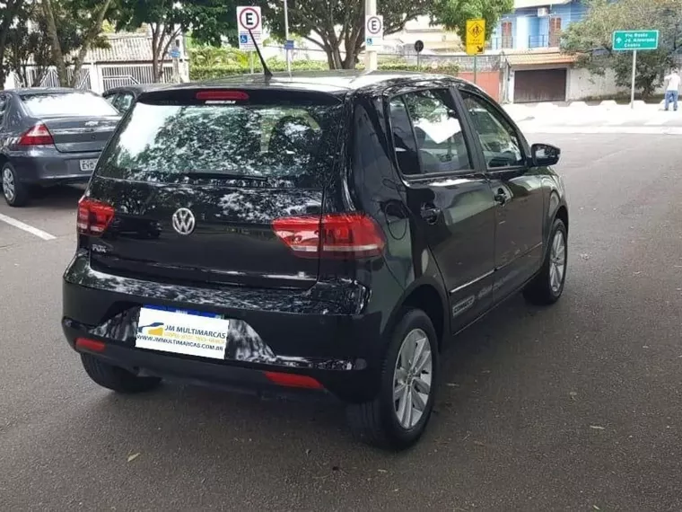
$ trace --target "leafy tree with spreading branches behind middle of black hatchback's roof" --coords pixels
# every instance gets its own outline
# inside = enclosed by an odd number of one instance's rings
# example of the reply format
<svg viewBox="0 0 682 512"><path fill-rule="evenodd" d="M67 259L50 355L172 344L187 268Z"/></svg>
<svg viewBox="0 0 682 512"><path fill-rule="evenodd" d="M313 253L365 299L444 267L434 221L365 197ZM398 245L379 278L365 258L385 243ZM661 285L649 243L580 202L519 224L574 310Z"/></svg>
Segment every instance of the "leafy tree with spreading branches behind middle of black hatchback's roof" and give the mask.
<svg viewBox="0 0 682 512"><path fill-rule="evenodd" d="M284 3L259 0L273 35L284 40ZM433 0L381 0L384 34L403 30L405 23L428 13ZM289 30L327 54L330 69L352 69L364 48L364 0L289 0ZM342 47L345 56L342 55Z"/></svg>

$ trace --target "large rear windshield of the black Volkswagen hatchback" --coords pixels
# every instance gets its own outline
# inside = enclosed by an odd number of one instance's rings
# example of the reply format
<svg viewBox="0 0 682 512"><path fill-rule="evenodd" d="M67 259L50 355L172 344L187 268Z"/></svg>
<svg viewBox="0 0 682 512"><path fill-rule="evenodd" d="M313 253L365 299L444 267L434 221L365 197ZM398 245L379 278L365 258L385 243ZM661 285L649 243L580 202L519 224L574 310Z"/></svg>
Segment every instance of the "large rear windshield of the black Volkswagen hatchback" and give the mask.
<svg viewBox="0 0 682 512"><path fill-rule="evenodd" d="M341 110L340 102L137 102L102 155L98 175L322 186L336 161Z"/></svg>

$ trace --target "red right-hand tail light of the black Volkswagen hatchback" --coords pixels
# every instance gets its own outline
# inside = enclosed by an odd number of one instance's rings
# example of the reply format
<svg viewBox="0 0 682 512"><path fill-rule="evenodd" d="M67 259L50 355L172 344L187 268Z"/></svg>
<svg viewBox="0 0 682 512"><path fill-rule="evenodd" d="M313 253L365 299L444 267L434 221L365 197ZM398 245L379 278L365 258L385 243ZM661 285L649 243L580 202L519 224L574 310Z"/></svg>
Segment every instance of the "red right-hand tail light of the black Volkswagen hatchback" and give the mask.
<svg viewBox="0 0 682 512"><path fill-rule="evenodd" d="M283 217L272 225L301 258L371 258L379 256L385 244L379 226L358 213Z"/></svg>

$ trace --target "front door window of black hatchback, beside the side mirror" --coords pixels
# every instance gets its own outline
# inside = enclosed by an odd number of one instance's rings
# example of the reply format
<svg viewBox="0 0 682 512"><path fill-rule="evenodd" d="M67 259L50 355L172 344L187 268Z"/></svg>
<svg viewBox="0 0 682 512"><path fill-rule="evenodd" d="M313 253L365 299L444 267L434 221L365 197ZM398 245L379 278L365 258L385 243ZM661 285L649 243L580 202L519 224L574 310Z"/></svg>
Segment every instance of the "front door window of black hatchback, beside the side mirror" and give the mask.
<svg viewBox="0 0 682 512"><path fill-rule="evenodd" d="M462 97L483 146L488 169L523 165L520 137L500 112L473 94L463 91Z"/></svg>

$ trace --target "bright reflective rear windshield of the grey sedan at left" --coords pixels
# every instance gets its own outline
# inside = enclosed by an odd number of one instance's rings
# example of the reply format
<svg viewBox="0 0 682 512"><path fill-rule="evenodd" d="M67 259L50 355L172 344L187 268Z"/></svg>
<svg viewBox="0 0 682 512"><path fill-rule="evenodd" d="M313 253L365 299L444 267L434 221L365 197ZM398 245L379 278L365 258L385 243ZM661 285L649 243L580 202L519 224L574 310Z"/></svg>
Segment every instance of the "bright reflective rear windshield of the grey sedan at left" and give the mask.
<svg viewBox="0 0 682 512"><path fill-rule="evenodd" d="M22 96L24 106L32 116L116 116L104 98L91 93L53 93Z"/></svg>

